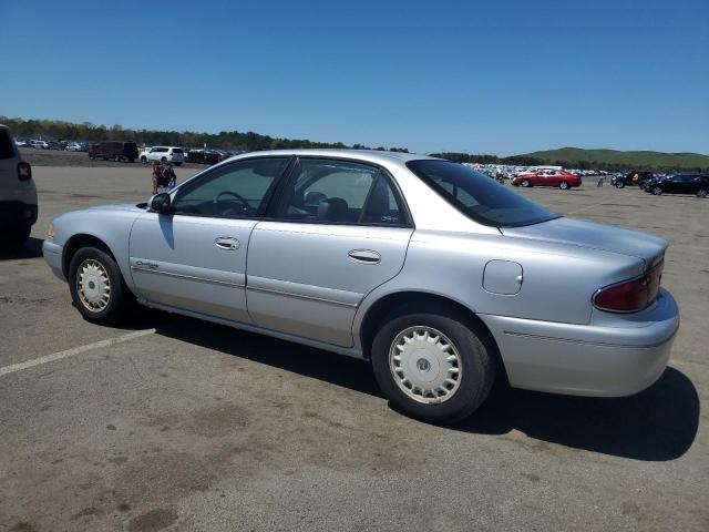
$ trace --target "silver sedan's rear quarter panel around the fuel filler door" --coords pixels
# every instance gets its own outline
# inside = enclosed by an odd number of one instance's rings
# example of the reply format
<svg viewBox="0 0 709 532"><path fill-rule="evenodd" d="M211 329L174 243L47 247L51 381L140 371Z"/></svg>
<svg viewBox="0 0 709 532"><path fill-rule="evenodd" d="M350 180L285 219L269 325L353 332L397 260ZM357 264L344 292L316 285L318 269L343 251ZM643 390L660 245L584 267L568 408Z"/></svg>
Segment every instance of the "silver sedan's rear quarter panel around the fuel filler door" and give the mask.
<svg viewBox="0 0 709 532"><path fill-rule="evenodd" d="M483 288L483 272L491 260L522 266L517 294L500 295ZM639 275L643 267L637 257L573 245L417 231L401 273L367 296L354 318L354 330L371 305L399 291L440 295L476 314L588 324L594 293Z"/></svg>

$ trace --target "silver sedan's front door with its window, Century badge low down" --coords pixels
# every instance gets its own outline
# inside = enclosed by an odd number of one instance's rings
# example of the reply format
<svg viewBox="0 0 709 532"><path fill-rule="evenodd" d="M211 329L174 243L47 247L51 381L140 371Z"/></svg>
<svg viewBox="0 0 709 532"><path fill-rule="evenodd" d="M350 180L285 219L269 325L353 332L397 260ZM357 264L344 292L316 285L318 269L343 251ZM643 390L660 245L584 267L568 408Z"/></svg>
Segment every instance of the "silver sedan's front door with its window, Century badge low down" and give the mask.
<svg viewBox="0 0 709 532"><path fill-rule="evenodd" d="M219 165L178 187L169 214L142 214L130 241L138 295L168 308L250 323L246 252L288 161L254 157Z"/></svg>

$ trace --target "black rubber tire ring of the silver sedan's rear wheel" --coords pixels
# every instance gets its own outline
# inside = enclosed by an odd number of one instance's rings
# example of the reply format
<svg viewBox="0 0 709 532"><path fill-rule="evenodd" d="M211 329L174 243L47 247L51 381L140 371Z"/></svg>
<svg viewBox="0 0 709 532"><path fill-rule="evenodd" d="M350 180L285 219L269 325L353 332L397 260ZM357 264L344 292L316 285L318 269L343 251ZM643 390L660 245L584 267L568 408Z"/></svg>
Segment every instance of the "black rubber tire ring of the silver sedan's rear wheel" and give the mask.
<svg viewBox="0 0 709 532"><path fill-rule="evenodd" d="M428 327L442 332L460 356L460 382L442 402L424 403L413 399L399 386L390 364L392 342L410 327ZM434 423L453 423L471 416L487 398L495 381L494 346L486 335L455 313L429 314L402 309L387 320L374 336L372 366L374 377L391 406L412 418Z"/></svg>

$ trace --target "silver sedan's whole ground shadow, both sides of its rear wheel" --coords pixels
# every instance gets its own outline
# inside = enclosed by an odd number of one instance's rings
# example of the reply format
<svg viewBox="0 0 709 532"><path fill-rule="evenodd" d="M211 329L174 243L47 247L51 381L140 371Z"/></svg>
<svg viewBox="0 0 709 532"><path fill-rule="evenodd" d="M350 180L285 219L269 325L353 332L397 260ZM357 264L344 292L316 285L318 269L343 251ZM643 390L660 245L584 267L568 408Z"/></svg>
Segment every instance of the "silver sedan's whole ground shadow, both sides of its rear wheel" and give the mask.
<svg viewBox="0 0 709 532"><path fill-rule="evenodd" d="M369 362L192 318L164 316L168 318L155 325L160 335L383 397ZM338 357L337 364L332 357ZM699 409L692 382L678 369L668 368L654 386L626 398L558 396L500 386L471 418L448 430L497 436L516 430L540 442L667 461L691 447Z"/></svg>

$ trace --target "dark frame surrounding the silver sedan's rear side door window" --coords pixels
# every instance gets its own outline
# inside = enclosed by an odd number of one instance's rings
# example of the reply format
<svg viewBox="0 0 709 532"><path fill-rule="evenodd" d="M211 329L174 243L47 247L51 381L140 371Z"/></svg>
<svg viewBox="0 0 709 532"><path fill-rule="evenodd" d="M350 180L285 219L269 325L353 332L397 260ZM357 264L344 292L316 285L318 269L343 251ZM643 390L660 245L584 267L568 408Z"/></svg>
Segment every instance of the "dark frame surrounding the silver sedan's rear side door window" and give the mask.
<svg viewBox="0 0 709 532"><path fill-rule="evenodd" d="M381 175L387 183L389 184L392 194L394 195L394 201L397 202L397 206L402 215L402 223L400 224L384 224L384 223L359 223L359 222L323 222L320 219L284 219L279 218L276 214L278 212L278 207L280 202L284 200L284 194L286 186L290 183L291 178L295 175L295 170L299 166L300 160L318 160L318 161L336 161L342 163L356 163L362 164L364 166L371 166L377 168L379 173L377 175ZM288 172L284 173L281 176L279 185L276 187L274 196L271 197L268 208L265 212L264 217L261 218L264 222L279 222L284 224L320 224L320 225L347 225L354 227L401 227L401 228L410 228L415 229L415 225L413 223L413 217L411 216L411 211L409 209L409 205L407 204L405 197L403 196L401 188L399 187L399 183L391 176L389 171L377 163L372 163L369 161L361 161L359 158L350 158L350 157L332 157L328 155L294 155L292 165L288 168ZM374 182L372 181L372 186ZM368 193L369 196L369 193ZM367 202L367 201L366 201ZM363 208L363 206L362 206Z"/></svg>

